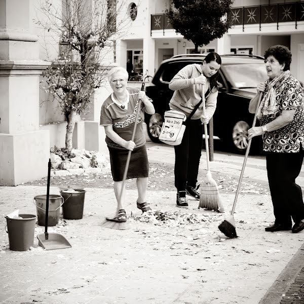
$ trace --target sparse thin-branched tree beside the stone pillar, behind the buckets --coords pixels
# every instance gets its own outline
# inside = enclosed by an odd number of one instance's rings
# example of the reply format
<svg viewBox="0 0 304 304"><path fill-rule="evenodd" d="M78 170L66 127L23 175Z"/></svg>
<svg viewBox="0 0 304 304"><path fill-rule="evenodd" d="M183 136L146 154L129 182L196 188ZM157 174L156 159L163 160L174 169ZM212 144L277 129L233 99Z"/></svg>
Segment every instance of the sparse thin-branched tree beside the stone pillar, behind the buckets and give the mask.
<svg viewBox="0 0 304 304"><path fill-rule="evenodd" d="M124 7L116 0L41 0L43 18L36 24L48 39L53 37L55 46L60 41L59 56L49 59L41 87L58 101L66 117L68 151L77 115L88 109L95 89L105 84L109 63L104 58L129 24L130 18L120 14ZM119 16L125 19L118 20ZM48 51L48 42L46 46Z"/></svg>

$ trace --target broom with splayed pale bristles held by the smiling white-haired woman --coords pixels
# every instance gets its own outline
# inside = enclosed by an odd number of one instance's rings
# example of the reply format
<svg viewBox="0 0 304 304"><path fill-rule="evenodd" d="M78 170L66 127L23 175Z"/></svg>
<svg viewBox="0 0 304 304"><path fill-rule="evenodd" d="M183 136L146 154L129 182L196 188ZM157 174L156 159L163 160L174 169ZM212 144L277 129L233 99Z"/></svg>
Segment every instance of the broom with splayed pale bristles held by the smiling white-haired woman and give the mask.
<svg viewBox="0 0 304 304"><path fill-rule="evenodd" d="M144 90L144 83L142 83L142 85L141 85L141 91L143 91L143 90ZM138 120L138 116L139 116L140 106L141 106L141 100L139 99L138 100L138 107L137 107L137 112L136 112L135 123L134 123L134 128L133 128L133 132L132 132L132 138L131 138L132 141L134 141L134 138L135 138L135 132L136 132L136 127L137 127L137 120ZM122 189L121 189L120 198L119 198L120 201L122 201L122 198L123 198L123 195L124 195L124 188L125 188L125 183L126 183L126 179L127 179L129 164L130 164L130 160L131 160L131 153L132 153L132 151L129 150L128 151L128 156L127 156L127 161L126 161L126 167L125 167L125 171L124 171L124 175L123 175ZM110 221L106 218L101 223L101 226L103 226L105 228L117 229L117 230L130 229L128 221L117 222L117 221Z"/></svg>

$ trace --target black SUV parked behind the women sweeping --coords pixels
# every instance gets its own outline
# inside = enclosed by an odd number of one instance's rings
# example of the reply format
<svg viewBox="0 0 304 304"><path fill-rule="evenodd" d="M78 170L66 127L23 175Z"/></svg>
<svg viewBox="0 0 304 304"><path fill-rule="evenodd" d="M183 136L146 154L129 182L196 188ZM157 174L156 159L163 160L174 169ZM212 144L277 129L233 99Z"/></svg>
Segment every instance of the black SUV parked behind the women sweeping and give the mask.
<svg viewBox="0 0 304 304"><path fill-rule="evenodd" d="M164 60L152 84L146 87L146 94L153 100L155 107L154 115L145 115L148 135L154 142L159 142L164 112L170 109L169 101L173 95L169 89L171 79L185 65L202 64L204 58L203 54L185 54ZM230 150L244 154L248 145L248 129L254 117L248 111L249 101L256 94L257 84L268 77L263 57L221 55L221 59L213 135L219 137ZM252 150L261 150L260 136L253 138Z"/></svg>

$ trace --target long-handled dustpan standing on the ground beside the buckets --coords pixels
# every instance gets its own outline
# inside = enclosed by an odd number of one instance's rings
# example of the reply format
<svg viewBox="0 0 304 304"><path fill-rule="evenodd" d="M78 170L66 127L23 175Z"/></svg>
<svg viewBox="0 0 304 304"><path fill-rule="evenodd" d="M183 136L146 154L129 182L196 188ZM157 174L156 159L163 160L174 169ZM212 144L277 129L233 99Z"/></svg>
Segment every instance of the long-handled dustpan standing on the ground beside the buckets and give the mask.
<svg viewBox="0 0 304 304"><path fill-rule="evenodd" d="M51 179L51 159L49 159L49 163L48 163L45 233L37 235L37 239L39 241L38 245L46 250L70 248L72 246L64 236L58 233L48 233L50 179Z"/></svg>

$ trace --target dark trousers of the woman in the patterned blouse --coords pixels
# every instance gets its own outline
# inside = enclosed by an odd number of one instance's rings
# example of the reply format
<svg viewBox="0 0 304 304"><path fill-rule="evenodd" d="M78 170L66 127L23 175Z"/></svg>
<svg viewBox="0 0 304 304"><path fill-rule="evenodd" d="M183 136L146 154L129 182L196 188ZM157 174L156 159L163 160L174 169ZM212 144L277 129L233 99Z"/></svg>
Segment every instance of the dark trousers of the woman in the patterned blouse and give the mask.
<svg viewBox="0 0 304 304"><path fill-rule="evenodd" d="M291 226L291 218L295 223L304 219L302 191L295 183L301 171L303 158L302 149L298 153L268 152L266 154L275 223Z"/></svg>

